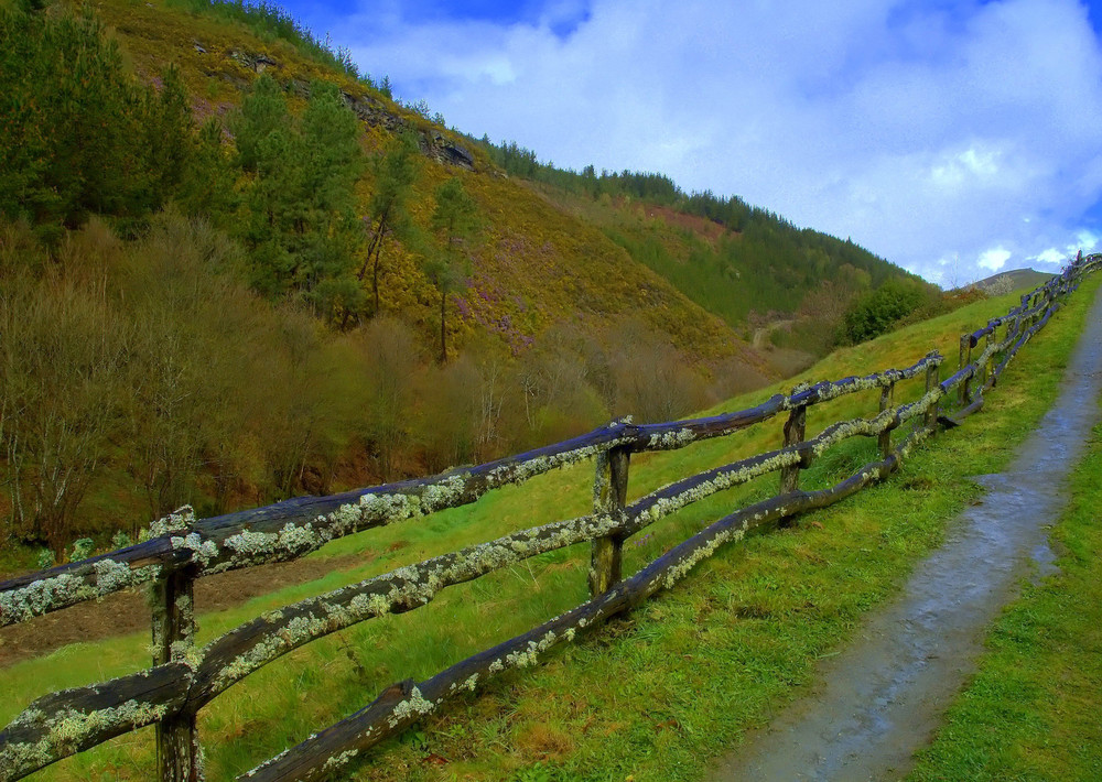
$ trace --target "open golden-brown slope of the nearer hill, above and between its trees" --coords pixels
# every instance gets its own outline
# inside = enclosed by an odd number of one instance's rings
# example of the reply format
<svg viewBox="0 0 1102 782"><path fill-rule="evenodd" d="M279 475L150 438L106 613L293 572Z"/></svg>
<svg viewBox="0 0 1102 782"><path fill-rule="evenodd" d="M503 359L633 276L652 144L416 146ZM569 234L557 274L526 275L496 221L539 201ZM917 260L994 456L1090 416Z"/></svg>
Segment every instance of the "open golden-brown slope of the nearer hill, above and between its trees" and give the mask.
<svg viewBox="0 0 1102 782"><path fill-rule="evenodd" d="M352 95L368 93L347 75L325 69L283 41L260 40L241 25L166 8L163 0L97 0L95 6L141 78L155 79L170 62L181 68L201 120L227 115L256 77L230 56L234 51L267 54L277 63L268 73L283 83L325 78ZM371 97L421 130L453 135L378 94ZM386 138L381 128L365 126L369 152L378 150ZM412 199L414 219L426 226L433 189L458 174L488 224L474 259L473 286L464 294L472 314L462 323L453 318L460 344L477 332L490 330L516 346L521 336L538 336L560 321L581 318L583 326L599 326L635 314L669 334L695 358L739 356L758 363L719 317L635 262L596 227L555 208L522 183L494 173L480 149L469 151L476 173L426 162ZM368 178L363 188L365 208L369 193ZM439 298L415 256L399 250L383 262L383 307L417 321L426 335L434 333Z"/></svg>

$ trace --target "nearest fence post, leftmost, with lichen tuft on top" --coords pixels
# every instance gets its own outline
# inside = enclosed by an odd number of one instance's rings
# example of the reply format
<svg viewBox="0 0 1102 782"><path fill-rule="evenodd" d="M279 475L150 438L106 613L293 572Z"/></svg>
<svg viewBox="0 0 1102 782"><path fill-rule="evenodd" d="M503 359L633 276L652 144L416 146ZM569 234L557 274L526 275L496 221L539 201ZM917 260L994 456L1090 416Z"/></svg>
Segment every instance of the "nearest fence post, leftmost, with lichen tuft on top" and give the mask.
<svg viewBox="0 0 1102 782"><path fill-rule="evenodd" d="M162 520L168 531L185 531L194 520L184 508ZM153 664L185 658L195 643L195 574L192 567L169 571L152 584ZM166 717L155 726L160 782L198 782L199 742L194 714Z"/></svg>

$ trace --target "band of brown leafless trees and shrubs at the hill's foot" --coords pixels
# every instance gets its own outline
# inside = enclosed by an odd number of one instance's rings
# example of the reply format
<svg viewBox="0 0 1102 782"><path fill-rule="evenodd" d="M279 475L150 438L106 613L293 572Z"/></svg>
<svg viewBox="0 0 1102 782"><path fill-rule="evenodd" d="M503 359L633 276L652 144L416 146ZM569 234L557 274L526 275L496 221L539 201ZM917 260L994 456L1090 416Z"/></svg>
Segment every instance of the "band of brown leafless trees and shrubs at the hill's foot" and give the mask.
<svg viewBox="0 0 1102 782"><path fill-rule="evenodd" d="M184 502L213 515L323 495L715 399L642 322L560 325L517 358L486 339L434 366L399 318L332 332L246 287L240 262L172 213L136 242L93 219L55 258L0 226L6 537L61 560Z"/></svg>

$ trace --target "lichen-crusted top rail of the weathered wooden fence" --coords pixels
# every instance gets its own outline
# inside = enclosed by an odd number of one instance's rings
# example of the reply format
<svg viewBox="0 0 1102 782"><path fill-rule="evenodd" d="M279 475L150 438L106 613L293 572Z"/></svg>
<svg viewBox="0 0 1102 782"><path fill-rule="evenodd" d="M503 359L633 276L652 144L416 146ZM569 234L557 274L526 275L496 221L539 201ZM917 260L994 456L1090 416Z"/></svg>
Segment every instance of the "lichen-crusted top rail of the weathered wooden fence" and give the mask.
<svg viewBox="0 0 1102 782"><path fill-rule="evenodd" d="M156 535L152 540L0 583L0 627L152 582L184 567L202 577L293 560L332 540L468 504L491 489L523 482L612 448L683 448L792 408L917 377L926 371L927 362L923 358L907 369L824 381L734 413L661 424L615 423L562 443L431 478L328 497L302 497L203 521L177 513L152 525Z"/></svg>

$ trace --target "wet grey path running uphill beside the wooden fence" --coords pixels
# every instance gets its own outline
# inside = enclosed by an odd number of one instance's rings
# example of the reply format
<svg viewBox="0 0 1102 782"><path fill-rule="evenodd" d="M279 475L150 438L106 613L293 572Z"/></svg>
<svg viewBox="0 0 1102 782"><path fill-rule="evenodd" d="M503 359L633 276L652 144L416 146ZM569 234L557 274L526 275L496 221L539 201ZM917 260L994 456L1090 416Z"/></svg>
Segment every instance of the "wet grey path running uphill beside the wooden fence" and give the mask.
<svg viewBox="0 0 1102 782"><path fill-rule="evenodd" d="M748 735L707 779L905 776L974 671L987 626L1031 567L1052 567L1047 530L1066 504L1067 476L1099 419L1100 393L1102 294L1052 409L1006 471L980 478L984 501L954 520L944 545L864 623L853 645L824 662L818 692Z"/></svg>

